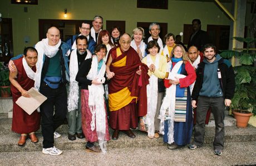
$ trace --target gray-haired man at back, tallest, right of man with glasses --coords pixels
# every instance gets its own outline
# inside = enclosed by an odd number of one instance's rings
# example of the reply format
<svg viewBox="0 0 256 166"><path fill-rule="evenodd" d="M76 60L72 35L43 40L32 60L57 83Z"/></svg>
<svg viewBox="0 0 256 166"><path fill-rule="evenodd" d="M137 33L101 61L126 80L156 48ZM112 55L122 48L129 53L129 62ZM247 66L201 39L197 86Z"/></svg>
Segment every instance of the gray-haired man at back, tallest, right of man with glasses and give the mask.
<svg viewBox="0 0 256 166"><path fill-rule="evenodd" d="M98 35L101 32L103 26L103 18L100 15L95 15L92 21L91 36L97 43Z"/></svg>

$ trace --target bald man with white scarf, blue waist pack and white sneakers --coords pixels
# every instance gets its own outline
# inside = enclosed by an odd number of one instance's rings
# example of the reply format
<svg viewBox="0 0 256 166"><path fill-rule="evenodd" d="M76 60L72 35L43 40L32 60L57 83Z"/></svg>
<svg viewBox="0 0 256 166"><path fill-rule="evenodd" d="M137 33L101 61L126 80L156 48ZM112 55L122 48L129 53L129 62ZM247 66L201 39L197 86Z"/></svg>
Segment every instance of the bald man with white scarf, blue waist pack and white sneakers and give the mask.
<svg viewBox="0 0 256 166"><path fill-rule="evenodd" d="M68 55L70 47L61 42L60 30L48 29L47 38L35 45L38 61L35 88L47 97L40 106L42 116L43 154L60 155L53 143L53 133L62 125L67 113Z"/></svg>

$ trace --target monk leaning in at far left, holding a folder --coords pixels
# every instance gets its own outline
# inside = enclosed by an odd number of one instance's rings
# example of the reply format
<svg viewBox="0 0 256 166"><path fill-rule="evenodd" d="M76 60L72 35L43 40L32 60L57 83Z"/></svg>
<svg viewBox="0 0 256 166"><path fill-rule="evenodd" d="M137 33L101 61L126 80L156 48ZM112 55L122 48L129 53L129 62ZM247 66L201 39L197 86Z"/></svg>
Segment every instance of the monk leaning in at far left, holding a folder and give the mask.
<svg viewBox="0 0 256 166"><path fill-rule="evenodd" d="M13 97L12 131L21 134L18 146L23 146L26 143L27 134L29 134L31 142L38 142L35 132L40 127L40 113L34 111L31 115L28 115L27 112L16 104L19 97L30 97L27 91L34 86L33 76L35 76L36 72L36 62L37 50L28 47L24 49L22 58L13 60L17 70L9 74Z"/></svg>

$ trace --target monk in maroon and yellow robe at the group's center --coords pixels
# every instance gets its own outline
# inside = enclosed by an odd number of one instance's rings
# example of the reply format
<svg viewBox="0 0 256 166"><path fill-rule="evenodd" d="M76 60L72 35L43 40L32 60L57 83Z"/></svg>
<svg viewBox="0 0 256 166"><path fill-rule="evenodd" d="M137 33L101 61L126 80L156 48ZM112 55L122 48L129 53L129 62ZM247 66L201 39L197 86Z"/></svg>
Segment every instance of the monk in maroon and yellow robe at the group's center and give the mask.
<svg viewBox="0 0 256 166"><path fill-rule="evenodd" d="M149 84L147 66L141 63L137 52L131 48L131 37L123 34L120 46L110 50L107 60L109 83L110 127L112 139L118 139L119 130L135 138L130 128L137 127L137 116L145 116L147 110L146 85ZM136 110L136 104L139 110Z"/></svg>

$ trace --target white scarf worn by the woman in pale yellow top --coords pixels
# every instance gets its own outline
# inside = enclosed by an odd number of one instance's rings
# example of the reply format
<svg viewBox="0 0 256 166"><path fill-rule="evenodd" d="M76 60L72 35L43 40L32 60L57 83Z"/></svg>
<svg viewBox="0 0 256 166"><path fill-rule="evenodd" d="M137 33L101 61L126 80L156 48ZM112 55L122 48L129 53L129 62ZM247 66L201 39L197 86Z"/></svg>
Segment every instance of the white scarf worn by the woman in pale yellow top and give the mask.
<svg viewBox="0 0 256 166"><path fill-rule="evenodd" d="M160 61L159 54L156 55L155 63L151 59L150 54L146 56L147 66L151 64L155 65L155 69L159 68ZM157 77L152 74L149 79L149 84L147 85L147 115L144 118L145 124L147 125L147 135L149 137L154 137L155 135L155 114L156 114L156 105L157 105L157 92L158 92L158 81Z"/></svg>

